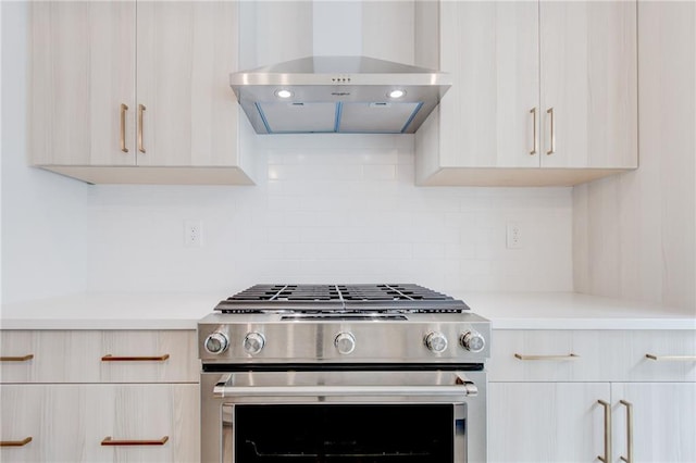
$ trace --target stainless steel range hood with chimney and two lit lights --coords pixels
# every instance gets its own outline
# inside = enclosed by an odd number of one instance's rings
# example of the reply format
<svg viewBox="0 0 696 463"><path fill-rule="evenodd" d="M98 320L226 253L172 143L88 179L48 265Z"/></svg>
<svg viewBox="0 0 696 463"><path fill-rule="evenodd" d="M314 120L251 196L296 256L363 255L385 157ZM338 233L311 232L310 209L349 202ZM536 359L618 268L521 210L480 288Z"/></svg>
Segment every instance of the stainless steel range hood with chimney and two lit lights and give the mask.
<svg viewBox="0 0 696 463"><path fill-rule="evenodd" d="M285 14L298 13L306 23L289 34L311 34L311 46L303 36L293 37L288 41L298 47L293 54L281 41L285 29L258 26L256 34L266 41L277 37L284 51L278 57L287 58L231 75L257 133L412 134L450 87L447 74L402 64L412 61L413 45L405 27L413 23L414 11L405 3L313 0L296 8ZM276 13L275 8L260 11L261 17ZM285 61L290 57L307 58Z"/></svg>

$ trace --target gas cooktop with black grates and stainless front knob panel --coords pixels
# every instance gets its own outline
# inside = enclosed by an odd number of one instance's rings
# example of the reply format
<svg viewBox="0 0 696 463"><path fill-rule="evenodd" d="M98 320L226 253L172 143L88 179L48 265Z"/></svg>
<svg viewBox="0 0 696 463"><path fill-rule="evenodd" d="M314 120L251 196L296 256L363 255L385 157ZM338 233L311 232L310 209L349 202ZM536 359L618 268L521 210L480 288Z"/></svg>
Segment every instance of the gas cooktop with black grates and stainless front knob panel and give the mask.
<svg viewBox="0 0 696 463"><path fill-rule="evenodd" d="M490 323L418 285L256 285L198 323L203 365L482 363Z"/></svg>

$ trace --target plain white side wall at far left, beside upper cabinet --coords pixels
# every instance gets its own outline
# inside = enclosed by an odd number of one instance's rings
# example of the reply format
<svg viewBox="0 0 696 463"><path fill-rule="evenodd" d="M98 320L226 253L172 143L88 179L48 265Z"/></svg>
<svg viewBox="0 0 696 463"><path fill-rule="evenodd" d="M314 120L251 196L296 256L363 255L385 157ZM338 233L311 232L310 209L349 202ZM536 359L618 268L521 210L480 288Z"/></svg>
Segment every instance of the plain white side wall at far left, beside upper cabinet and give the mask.
<svg viewBox="0 0 696 463"><path fill-rule="evenodd" d="M0 8L5 303L85 290L88 187L27 166L26 3Z"/></svg>

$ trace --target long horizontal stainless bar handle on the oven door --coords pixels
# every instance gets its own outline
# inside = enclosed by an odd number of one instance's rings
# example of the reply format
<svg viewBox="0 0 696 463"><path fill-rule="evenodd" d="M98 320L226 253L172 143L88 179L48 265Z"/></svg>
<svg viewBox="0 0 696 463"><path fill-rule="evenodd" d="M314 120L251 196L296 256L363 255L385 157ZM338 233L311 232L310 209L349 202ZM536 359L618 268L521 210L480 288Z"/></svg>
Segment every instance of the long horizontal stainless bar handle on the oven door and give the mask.
<svg viewBox="0 0 696 463"><path fill-rule="evenodd" d="M217 399L225 397L330 397L330 396L463 396L478 393L476 385L458 378L455 386L227 386L213 388Z"/></svg>

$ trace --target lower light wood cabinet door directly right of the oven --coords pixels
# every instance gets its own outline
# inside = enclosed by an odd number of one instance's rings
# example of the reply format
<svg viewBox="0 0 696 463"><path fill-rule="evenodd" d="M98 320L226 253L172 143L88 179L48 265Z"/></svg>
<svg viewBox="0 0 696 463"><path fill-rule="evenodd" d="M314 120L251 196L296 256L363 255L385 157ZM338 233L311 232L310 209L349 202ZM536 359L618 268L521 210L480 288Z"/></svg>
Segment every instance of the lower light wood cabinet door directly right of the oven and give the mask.
<svg viewBox="0 0 696 463"><path fill-rule="evenodd" d="M489 383L489 462L592 462L604 452L608 383Z"/></svg>

